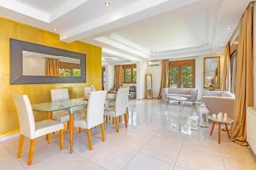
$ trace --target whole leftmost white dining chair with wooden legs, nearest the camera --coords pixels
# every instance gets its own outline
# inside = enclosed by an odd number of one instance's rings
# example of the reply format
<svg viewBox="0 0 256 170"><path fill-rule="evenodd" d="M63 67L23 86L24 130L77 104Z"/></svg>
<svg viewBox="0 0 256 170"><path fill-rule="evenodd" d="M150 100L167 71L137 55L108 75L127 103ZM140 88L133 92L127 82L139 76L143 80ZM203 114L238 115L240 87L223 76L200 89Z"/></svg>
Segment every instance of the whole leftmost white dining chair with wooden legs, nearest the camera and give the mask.
<svg viewBox="0 0 256 170"><path fill-rule="evenodd" d="M35 139L50 135L51 133L60 131L60 148L63 150L64 147L64 125L63 123L56 122L51 119L47 119L41 122L35 122L32 111L32 105L27 95L15 94L15 105L18 111L20 121L20 144L18 148L17 157L20 158L22 155L23 144L25 137L30 139L30 150L27 165L32 164L33 151L35 147Z"/></svg>

